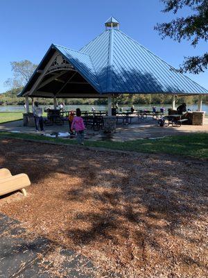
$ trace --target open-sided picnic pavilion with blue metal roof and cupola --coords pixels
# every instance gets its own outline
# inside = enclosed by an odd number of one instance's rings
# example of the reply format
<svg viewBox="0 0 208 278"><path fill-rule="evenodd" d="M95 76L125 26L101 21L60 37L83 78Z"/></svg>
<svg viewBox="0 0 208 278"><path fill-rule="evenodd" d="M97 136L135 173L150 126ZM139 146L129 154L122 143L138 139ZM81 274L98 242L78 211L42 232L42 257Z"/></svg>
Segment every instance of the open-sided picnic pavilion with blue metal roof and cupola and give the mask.
<svg viewBox="0 0 208 278"><path fill-rule="evenodd" d="M108 98L112 115L112 97L120 94L202 95L208 90L177 72L171 65L119 30L114 18L105 22L105 31L85 47L72 50L51 44L19 97Z"/></svg>

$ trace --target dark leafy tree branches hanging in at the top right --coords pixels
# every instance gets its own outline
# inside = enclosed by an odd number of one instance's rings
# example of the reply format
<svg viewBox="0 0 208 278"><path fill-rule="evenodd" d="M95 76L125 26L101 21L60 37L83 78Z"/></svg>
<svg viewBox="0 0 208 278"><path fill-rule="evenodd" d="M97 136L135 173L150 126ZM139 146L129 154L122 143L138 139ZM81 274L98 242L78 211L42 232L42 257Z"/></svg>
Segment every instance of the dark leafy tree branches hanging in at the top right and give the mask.
<svg viewBox="0 0 208 278"><path fill-rule="evenodd" d="M165 7L163 13L173 11L176 14L182 8L190 8L192 14L188 17L177 17L171 22L157 24L154 28L159 31L162 39L165 37L191 41L191 45L196 47L200 40L208 40L208 1L207 0L161 0ZM208 52L201 56L184 57L184 62L180 65L180 72L190 72L198 74L205 72L208 65Z"/></svg>

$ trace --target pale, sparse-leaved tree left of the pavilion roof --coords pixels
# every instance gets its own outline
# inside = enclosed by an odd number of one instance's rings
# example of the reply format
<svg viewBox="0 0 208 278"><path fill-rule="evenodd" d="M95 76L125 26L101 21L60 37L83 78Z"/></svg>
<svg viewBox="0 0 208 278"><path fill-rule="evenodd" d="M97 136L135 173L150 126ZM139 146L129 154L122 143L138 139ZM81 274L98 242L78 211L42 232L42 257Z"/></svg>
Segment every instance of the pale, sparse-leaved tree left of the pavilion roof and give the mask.
<svg viewBox="0 0 208 278"><path fill-rule="evenodd" d="M37 65L29 60L10 63L13 72L13 78L7 79L4 84L10 88L20 88L26 85L35 71Z"/></svg>

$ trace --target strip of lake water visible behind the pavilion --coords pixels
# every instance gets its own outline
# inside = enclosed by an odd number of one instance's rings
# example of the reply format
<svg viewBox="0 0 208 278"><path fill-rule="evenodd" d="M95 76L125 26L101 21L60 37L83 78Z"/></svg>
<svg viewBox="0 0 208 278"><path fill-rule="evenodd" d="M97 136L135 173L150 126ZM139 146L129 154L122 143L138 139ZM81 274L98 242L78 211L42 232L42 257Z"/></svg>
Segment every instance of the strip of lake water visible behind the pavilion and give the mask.
<svg viewBox="0 0 208 278"><path fill-rule="evenodd" d="M135 104L135 108L137 109L147 109L147 110L152 110L152 107L156 106L157 109L159 110L162 105L160 104ZM45 106L42 106L44 108ZM51 106L52 107L52 106ZM94 105L94 108L96 110L107 110L107 105ZM123 107L123 109L130 109L130 106L123 104L119 105L119 107ZM191 111L197 111L197 104L187 104L187 108L191 109ZM31 109L32 107L30 107ZM75 111L76 108L80 108L81 111L91 111L92 105L67 105L66 110L67 111ZM168 109L171 108L171 104L164 104L164 108ZM24 113L25 109L24 106L15 106L15 105L8 105L8 106L0 106L0 112L22 112ZM31 109L32 111L32 109ZM208 104L203 104L202 105L202 111L205 111L206 114L208 114Z"/></svg>

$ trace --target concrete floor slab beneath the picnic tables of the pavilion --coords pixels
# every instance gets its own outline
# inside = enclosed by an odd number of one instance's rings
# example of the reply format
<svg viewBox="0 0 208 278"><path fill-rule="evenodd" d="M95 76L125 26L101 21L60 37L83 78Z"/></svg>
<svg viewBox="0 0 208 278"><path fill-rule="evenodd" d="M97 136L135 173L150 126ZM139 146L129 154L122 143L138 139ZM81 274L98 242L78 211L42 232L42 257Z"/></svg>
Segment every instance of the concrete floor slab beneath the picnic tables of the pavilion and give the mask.
<svg viewBox="0 0 208 278"><path fill-rule="evenodd" d="M22 121L8 122L6 124L0 124L0 131L21 132L21 133L35 133L35 128L23 126ZM69 131L69 124L65 122L64 125L58 126L45 126L45 132L47 134L52 133L67 133ZM172 126L157 126L157 120L153 120L152 117L146 119L137 119L134 117L132 124L123 125L118 124L116 133L111 135L105 135L93 129L87 129L85 137L87 140L112 140L112 141L128 141L143 138L160 138L171 135L183 135L194 132L208 132L208 118L205 118L205 124L203 126L190 126L182 125L179 128Z"/></svg>

